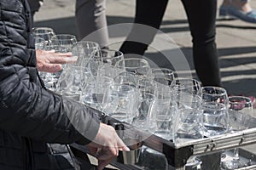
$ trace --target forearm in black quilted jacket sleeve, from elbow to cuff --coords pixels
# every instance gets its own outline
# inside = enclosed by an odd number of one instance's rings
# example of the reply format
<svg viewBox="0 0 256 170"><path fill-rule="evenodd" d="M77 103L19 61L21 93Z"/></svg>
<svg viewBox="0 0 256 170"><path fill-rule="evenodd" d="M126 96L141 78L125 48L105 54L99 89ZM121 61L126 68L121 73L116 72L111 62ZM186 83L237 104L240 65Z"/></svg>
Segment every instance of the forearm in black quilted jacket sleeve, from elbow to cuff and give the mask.
<svg viewBox="0 0 256 170"><path fill-rule="evenodd" d="M34 83L24 83L21 81L15 88L4 89L6 95L2 95L0 105L1 129L53 143L79 141L86 144L90 142L88 139L94 138L99 125L90 109L51 94Z"/></svg>

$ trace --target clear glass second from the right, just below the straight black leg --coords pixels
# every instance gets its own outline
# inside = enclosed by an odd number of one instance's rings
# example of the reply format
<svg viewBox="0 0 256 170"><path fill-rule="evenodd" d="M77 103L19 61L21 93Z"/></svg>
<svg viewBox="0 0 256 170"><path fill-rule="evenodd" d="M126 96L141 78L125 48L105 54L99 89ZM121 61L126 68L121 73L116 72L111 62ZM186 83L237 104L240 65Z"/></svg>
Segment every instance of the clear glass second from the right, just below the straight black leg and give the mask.
<svg viewBox="0 0 256 170"><path fill-rule="evenodd" d="M204 135L211 137L224 134L229 129L229 98L224 88L202 87L202 119Z"/></svg>

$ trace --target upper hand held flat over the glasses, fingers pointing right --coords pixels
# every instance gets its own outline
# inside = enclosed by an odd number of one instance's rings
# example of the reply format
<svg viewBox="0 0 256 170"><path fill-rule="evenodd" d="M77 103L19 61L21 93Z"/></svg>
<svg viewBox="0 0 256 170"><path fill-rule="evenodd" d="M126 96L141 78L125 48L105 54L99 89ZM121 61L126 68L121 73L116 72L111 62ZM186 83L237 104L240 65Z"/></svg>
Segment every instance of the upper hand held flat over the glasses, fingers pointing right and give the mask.
<svg viewBox="0 0 256 170"><path fill-rule="evenodd" d="M37 67L38 71L57 72L61 71L61 64L75 63L77 56L72 56L72 53L55 53L52 51L44 51L37 49Z"/></svg>

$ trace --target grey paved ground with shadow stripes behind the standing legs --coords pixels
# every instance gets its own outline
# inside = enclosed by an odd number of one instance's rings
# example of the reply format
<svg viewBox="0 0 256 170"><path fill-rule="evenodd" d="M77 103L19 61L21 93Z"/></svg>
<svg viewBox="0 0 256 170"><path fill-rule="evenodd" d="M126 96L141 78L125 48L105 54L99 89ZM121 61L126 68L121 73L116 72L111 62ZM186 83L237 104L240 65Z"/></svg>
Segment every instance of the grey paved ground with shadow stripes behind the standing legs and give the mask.
<svg viewBox="0 0 256 170"><path fill-rule="evenodd" d="M218 7L221 3L222 0L218 0ZM256 9L256 1L250 1L250 4ZM34 26L48 26L56 33L78 36L74 6L75 0L44 0L44 6L35 15ZM135 0L107 0L108 25L131 23L134 14ZM256 96L256 24L218 17L216 25L216 42L224 88L230 95ZM127 28L124 28L124 32L126 31ZM169 2L160 31L176 42L189 62L190 71L196 77L189 25L180 0ZM110 32L109 35L111 40L119 44L125 39L123 32ZM158 33L155 41L161 40L162 35L162 32ZM158 41L157 44L162 51L171 50L165 41ZM149 49L145 55L154 57L157 53Z"/></svg>

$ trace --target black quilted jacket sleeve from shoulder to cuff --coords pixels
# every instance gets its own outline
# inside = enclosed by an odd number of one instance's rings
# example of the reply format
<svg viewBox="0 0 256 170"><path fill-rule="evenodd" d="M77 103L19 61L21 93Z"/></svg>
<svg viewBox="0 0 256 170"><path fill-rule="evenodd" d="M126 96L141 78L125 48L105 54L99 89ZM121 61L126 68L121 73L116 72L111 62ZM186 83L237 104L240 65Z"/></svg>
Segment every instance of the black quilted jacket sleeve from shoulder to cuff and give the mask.
<svg viewBox="0 0 256 170"><path fill-rule="evenodd" d="M52 143L89 143L99 128L96 111L32 81L25 9L14 2L0 3L0 129Z"/></svg>

